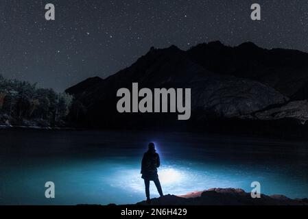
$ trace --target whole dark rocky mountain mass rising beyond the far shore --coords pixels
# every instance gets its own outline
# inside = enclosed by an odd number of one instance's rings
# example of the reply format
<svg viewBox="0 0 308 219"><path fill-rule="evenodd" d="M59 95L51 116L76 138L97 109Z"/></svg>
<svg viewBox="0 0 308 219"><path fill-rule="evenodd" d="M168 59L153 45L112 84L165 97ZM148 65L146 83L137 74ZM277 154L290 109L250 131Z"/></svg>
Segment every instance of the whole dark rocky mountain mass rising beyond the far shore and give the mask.
<svg viewBox="0 0 308 219"><path fill-rule="evenodd" d="M119 114L117 90L191 88L191 119L176 114ZM106 79L67 89L84 107L80 125L99 128L207 129L277 132L307 129L308 54L262 49L252 42L228 47L198 44L188 51L150 49L132 66ZM292 127L292 128L290 128Z"/></svg>

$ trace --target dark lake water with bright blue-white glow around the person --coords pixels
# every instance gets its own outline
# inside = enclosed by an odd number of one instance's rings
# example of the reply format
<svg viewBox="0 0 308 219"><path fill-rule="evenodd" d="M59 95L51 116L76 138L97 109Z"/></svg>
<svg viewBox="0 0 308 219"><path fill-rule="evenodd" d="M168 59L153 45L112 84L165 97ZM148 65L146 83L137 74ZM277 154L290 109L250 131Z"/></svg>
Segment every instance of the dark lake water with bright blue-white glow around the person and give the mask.
<svg viewBox="0 0 308 219"><path fill-rule="evenodd" d="M165 194L261 183L265 194L308 197L305 142L190 133L0 130L0 204L127 204L144 199L147 142L161 154ZM54 181L56 198L45 198ZM158 196L151 184L152 196Z"/></svg>

